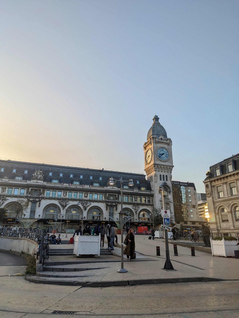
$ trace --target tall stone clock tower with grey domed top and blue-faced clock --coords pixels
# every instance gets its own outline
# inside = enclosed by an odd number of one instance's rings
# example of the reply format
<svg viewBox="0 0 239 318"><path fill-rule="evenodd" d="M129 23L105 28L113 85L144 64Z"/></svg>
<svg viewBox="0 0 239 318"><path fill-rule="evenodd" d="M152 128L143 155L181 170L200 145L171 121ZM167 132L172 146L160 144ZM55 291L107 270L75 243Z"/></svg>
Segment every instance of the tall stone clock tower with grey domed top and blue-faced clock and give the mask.
<svg viewBox="0 0 239 318"><path fill-rule="evenodd" d="M172 193L172 141L167 137L166 130L160 125L158 116L154 116L153 125L149 129L147 142L143 145L144 171L154 191L154 207L163 209L162 195L158 187L164 183L168 196L164 197L164 208L170 210L174 221L173 193Z"/></svg>

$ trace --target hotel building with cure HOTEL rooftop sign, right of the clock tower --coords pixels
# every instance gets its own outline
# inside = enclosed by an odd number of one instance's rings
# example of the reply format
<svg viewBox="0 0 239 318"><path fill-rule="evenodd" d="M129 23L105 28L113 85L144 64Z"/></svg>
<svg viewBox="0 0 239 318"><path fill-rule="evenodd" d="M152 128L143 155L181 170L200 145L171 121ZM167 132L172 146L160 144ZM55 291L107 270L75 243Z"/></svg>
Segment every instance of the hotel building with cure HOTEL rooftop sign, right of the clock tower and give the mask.
<svg viewBox="0 0 239 318"><path fill-rule="evenodd" d="M204 222L204 218L199 215L195 184L172 181L172 190L175 223L180 225L181 229L192 227L201 229L201 222Z"/></svg>

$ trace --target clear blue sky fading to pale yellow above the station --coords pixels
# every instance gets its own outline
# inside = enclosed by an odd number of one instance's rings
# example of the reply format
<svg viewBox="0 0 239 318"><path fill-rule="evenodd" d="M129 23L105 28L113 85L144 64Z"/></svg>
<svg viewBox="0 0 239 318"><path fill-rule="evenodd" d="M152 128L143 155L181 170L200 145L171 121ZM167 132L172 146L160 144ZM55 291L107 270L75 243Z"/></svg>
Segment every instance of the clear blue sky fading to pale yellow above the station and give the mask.
<svg viewBox="0 0 239 318"><path fill-rule="evenodd" d="M0 157L144 172L157 114L173 180L239 152L236 0L2 0Z"/></svg>

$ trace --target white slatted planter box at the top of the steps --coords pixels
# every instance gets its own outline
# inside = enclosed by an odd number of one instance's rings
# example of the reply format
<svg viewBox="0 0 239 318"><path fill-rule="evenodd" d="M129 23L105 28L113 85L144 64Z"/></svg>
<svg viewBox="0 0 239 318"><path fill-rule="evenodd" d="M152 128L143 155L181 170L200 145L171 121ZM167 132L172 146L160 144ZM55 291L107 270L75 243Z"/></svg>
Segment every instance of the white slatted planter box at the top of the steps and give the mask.
<svg viewBox="0 0 239 318"><path fill-rule="evenodd" d="M73 254L79 255L98 255L100 256L100 235L76 235L74 241Z"/></svg>

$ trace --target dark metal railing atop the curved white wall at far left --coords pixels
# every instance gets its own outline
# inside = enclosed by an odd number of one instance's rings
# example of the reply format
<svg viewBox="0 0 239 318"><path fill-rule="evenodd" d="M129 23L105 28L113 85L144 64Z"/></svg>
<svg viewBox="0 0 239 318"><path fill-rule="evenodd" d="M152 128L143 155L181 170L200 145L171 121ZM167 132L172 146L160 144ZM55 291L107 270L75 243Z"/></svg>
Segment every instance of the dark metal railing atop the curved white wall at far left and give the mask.
<svg viewBox="0 0 239 318"><path fill-rule="evenodd" d="M12 238L26 238L36 240L41 236L42 230L36 227L2 227L0 229L0 236Z"/></svg>

